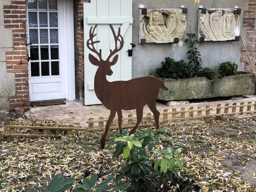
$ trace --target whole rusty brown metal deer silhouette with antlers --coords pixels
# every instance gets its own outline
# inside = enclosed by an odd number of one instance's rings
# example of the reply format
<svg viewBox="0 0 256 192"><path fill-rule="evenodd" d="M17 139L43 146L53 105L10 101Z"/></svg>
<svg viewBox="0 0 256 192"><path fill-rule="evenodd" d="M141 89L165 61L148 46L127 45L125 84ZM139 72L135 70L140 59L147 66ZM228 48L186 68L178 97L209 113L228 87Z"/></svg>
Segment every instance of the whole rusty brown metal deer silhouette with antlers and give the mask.
<svg viewBox="0 0 256 192"><path fill-rule="evenodd" d="M120 34L120 27L116 35L115 30L112 25L110 25L111 31L114 36L115 49L110 50L110 54L106 60L102 59L101 49L97 51L94 44L100 42L99 40L93 41L93 38L97 35L95 33L97 25L91 27L89 39L87 40L87 47L93 53L96 53L98 58L89 53L90 62L98 66L98 69L94 78L94 90L98 99L102 102L106 109L109 109L110 117L106 122L105 132L100 139L101 149L105 146L106 134L108 134L110 124L115 118L116 112L118 115L118 126L119 132L121 133L121 121L122 121L122 110L132 110L136 109L137 114L137 124L130 132L133 134L139 123L142 120L143 107L145 104L148 105L152 113L154 114L154 119L156 121L156 129L159 128L159 112L156 109L156 100L159 93L159 89L168 90L164 84L154 77L140 77L127 81L113 81L109 82L106 79L106 75L112 75L113 71L111 66L115 65L118 60L118 53L123 48L123 37ZM120 46L118 48L118 42ZM115 56L114 56L115 55ZM111 61L111 58L114 58Z"/></svg>

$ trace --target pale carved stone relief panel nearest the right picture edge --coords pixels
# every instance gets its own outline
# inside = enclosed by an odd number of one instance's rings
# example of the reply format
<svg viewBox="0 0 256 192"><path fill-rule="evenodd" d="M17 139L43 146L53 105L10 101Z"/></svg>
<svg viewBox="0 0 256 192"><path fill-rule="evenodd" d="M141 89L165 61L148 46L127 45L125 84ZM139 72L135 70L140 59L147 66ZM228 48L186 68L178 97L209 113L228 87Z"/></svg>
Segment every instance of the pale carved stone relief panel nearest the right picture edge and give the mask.
<svg viewBox="0 0 256 192"><path fill-rule="evenodd" d="M198 40L203 37L203 41L225 41L239 37L238 9L207 8L199 10L198 15Z"/></svg>

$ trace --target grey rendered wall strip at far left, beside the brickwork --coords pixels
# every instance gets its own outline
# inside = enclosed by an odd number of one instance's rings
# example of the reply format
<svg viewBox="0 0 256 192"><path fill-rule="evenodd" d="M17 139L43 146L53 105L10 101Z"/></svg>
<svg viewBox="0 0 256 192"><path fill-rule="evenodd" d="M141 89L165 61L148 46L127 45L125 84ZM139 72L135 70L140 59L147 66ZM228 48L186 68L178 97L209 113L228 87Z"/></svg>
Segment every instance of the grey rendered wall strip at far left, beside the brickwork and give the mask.
<svg viewBox="0 0 256 192"><path fill-rule="evenodd" d="M12 29L4 26L4 5L11 5L11 0L0 1L0 112L8 111L8 96L15 94L14 74L6 73L5 52L13 50Z"/></svg>

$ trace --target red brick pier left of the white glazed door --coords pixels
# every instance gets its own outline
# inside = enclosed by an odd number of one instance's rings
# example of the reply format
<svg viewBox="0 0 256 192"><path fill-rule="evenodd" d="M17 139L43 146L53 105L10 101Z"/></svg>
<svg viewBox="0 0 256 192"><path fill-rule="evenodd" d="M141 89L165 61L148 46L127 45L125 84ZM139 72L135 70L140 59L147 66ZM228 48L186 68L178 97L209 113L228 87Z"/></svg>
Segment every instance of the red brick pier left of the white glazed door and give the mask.
<svg viewBox="0 0 256 192"><path fill-rule="evenodd" d="M7 73L15 76L15 95L8 98L12 111L15 106L29 105L26 0L12 0L4 6L4 23L13 35L13 51L6 52Z"/></svg>

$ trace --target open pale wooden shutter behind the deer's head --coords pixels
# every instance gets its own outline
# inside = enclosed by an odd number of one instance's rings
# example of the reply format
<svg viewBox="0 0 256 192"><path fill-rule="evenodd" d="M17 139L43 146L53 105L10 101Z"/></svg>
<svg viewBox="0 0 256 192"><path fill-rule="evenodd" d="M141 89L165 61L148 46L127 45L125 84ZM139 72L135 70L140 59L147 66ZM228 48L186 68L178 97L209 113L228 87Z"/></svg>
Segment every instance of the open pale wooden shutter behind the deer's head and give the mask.
<svg viewBox="0 0 256 192"><path fill-rule="evenodd" d="M113 25L115 31L121 27L121 35L124 39L122 50L118 53L117 63L111 67L112 76L107 76L109 81L130 80L132 78L132 57L128 56L128 49L132 43L132 0L91 0L91 3L83 3L84 14L84 104L100 104L101 102L94 92L94 76L97 67L88 59L92 53L86 46L90 28L97 24L97 36L100 42L95 45L97 50L102 50L102 59L109 55L109 50L114 48L114 37L109 27Z"/></svg>

